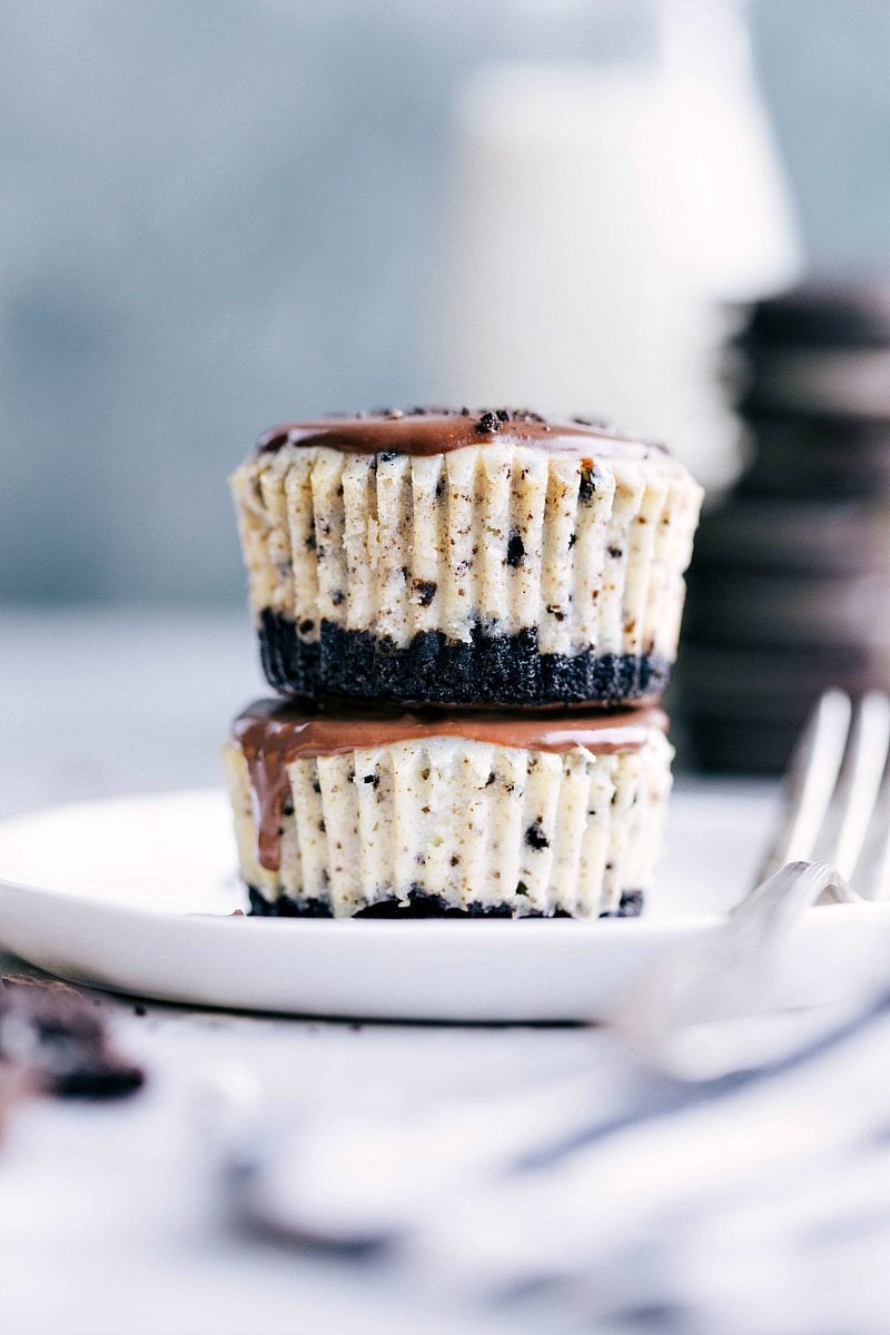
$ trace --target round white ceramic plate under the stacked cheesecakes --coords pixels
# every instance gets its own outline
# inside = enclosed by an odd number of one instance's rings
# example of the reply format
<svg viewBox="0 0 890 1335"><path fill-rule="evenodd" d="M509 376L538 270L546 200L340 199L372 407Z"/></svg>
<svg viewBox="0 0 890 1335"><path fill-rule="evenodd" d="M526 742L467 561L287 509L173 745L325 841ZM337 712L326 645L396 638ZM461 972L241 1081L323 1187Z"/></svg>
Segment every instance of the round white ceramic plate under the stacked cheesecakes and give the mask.
<svg viewBox="0 0 890 1335"><path fill-rule="evenodd" d="M528 1021L602 1016L741 897L769 794L678 792L642 918L331 921L231 917L243 905L226 798L172 793L0 824L0 947L52 973L165 1001L292 1015ZM810 912L782 992L843 987L890 909ZM886 944L886 934L877 933Z"/></svg>

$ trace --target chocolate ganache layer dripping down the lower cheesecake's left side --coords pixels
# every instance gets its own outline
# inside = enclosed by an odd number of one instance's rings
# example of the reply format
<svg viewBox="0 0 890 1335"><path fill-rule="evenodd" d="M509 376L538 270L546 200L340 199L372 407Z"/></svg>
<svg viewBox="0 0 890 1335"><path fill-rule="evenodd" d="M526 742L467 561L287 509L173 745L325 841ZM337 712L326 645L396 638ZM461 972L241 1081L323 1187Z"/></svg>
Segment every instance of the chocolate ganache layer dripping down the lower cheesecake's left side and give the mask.
<svg viewBox="0 0 890 1335"><path fill-rule="evenodd" d="M655 708L615 714L578 709L443 714L434 710L407 713L386 705L367 705L354 712L338 705L336 713L330 713L304 701L260 700L235 720L234 736L247 761L256 797L259 861L275 872L280 866L282 814L291 790L287 766L296 760L432 737L463 737L523 750L584 748L611 756L639 750L654 729L667 730L667 716Z"/></svg>

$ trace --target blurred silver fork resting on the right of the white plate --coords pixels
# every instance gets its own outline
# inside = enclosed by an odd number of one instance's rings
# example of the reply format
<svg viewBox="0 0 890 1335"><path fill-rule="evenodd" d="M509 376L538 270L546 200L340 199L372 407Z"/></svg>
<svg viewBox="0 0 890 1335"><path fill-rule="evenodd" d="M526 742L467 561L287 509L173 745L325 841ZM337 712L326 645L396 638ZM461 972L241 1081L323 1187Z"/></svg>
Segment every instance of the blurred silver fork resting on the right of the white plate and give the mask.
<svg viewBox="0 0 890 1335"><path fill-rule="evenodd" d="M758 884L723 926L674 952L614 1011L614 1031L647 1065L714 1079L781 1055L825 1023L751 1012L809 908L889 897L889 756L890 697L871 692L853 705L831 690L819 700L791 757Z"/></svg>

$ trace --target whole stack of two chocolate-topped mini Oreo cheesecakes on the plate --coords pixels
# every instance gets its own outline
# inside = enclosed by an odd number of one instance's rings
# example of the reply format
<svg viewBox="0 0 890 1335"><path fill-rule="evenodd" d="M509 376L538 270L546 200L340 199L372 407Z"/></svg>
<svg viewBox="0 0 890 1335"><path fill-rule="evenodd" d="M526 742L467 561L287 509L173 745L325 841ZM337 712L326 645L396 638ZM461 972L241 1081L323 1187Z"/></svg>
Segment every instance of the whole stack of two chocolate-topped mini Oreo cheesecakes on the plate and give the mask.
<svg viewBox="0 0 890 1335"><path fill-rule="evenodd" d="M279 693L226 749L255 913L639 912L701 489L587 421L291 425L234 477Z"/></svg>

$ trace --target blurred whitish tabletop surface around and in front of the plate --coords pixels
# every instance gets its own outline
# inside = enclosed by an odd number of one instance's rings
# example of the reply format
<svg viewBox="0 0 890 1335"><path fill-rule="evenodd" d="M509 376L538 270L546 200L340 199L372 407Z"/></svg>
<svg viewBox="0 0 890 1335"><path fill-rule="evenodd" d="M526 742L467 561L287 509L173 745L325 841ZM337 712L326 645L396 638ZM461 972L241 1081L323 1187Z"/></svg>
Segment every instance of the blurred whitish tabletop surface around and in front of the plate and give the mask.
<svg viewBox="0 0 890 1335"><path fill-rule="evenodd" d="M262 690L243 614L0 618L0 814L217 781L228 720ZM626 1079L594 1029L101 1004L149 1083L128 1103L44 1103L13 1124L0 1152L4 1335L506 1335L514 1322L443 1311L442 1295L424 1304L375 1267L240 1236L219 1208L203 1091L246 1083L271 1117L291 1119L423 1105L579 1063L610 1089ZM535 1328L564 1328L551 1315Z"/></svg>

